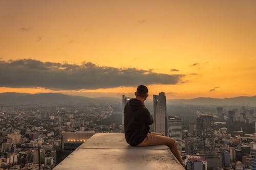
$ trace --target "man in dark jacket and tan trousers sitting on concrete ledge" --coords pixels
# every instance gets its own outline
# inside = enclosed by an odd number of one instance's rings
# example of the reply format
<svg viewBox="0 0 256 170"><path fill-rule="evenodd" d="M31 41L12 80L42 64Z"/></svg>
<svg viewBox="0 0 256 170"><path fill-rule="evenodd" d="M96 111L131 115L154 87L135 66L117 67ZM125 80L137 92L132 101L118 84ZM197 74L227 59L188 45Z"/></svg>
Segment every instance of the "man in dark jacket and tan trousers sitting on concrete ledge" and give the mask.
<svg viewBox="0 0 256 170"><path fill-rule="evenodd" d="M161 133L150 132L149 125L153 124L153 117L144 105L148 96L148 89L144 85L137 87L136 98L124 107L124 134L127 143L135 147L146 147L165 144L183 165L176 140Z"/></svg>

